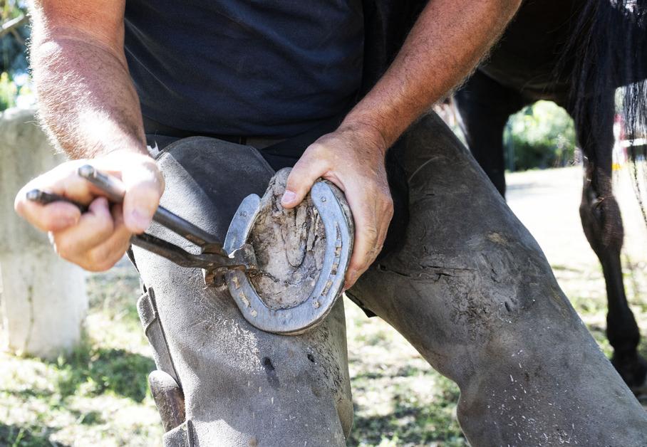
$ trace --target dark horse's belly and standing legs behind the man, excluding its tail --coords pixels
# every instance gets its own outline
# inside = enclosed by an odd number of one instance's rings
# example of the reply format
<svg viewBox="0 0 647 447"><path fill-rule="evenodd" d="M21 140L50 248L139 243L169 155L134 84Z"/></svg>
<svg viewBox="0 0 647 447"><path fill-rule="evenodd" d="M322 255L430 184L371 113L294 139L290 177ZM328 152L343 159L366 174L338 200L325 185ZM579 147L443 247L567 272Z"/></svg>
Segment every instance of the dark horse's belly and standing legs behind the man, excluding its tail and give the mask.
<svg viewBox="0 0 647 447"><path fill-rule="evenodd" d="M576 62L581 55L564 56L575 45L586 44L584 39L569 43L573 30L584 23L581 15L585 6L584 0L524 1L490 58L455 94L454 104L467 144L501 194L505 194L502 135L509 115L537 100L552 100L575 118L585 158L579 211L584 233L606 280L612 362L625 382L639 391L646 383L647 362L637 352L640 333L623 287L623 226L611 191L614 93L624 82L597 82L595 88L578 88L578 82L584 85L582 66ZM557 66L561 69L556 70ZM594 94L589 95L590 91Z"/></svg>

